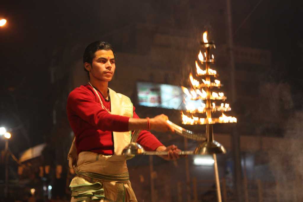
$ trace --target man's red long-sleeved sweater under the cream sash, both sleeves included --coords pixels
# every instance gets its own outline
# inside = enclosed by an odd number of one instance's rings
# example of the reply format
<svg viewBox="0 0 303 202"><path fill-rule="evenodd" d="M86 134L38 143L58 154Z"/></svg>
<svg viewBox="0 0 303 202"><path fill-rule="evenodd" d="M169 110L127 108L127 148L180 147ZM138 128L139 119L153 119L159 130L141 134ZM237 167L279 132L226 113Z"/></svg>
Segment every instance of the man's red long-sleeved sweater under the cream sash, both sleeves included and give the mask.
<svg viewBox="0 0 303 202"><path fill-rule="evenodd" d="M98 91L98 90L97 90ZM110 101L105 101L98 91L103 105L110 109ZM104 155L114 154L112 131L128 131L129 117L108 114L90 85L75 88L67 99L68 121L74 131L78 154L92 151ZM135 113L133 118L139 118ZM141 131L138 143L147 151L154 151L163 145L149 131Z"/></svg>

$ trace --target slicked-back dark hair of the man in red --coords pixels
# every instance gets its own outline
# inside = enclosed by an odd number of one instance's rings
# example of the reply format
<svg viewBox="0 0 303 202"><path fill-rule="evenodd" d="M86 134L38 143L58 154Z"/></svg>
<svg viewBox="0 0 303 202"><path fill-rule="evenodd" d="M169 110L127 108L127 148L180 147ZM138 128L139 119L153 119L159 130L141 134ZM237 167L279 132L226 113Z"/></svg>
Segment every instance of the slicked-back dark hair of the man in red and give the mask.
<svg viewBox="0 0 303 202"><path fill-rule="evenodd" d="M112 45L106 41L95 41L95 42L92 42L91 44L89 44L86 48L85 48L85 51L84 51L84 54L83 54L83 64L85 62L88 62L89 64L92 64L92 61L95 57L95 52L98 51L98 50L112 50L113 53L114 53L114 57L116 57L115 55L115 51L112 47ZM84 71L86 71L87 75L88 75L88 78L89 78L89 73L88 71L84 68Z"/></svg>

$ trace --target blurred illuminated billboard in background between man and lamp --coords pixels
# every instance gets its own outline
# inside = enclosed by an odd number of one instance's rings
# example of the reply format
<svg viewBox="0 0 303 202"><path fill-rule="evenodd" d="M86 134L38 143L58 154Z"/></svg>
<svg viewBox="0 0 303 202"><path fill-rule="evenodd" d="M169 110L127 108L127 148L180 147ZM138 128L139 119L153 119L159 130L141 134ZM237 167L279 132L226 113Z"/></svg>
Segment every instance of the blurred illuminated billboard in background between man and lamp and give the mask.
<svg viewBox="0 0 303 202"><path fill-rule="evenodd" d="M180 86L137 82L138 104L146 107L185 110L185 104L191 103L196 108L203 101L190 100Z"/></svg>

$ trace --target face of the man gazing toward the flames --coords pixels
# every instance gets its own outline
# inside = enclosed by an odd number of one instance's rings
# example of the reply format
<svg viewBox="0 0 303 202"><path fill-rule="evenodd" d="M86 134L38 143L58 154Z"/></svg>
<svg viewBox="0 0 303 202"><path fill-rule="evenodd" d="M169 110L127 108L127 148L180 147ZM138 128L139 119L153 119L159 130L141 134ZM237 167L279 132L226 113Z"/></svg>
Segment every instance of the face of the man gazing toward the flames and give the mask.
<svg viewBox="0 0 303 202"><path fill-rule="evenodd" d="M90 78L99 81L111 81L115 72L115 57L112 50L98 50L92 61Z"/></svg>

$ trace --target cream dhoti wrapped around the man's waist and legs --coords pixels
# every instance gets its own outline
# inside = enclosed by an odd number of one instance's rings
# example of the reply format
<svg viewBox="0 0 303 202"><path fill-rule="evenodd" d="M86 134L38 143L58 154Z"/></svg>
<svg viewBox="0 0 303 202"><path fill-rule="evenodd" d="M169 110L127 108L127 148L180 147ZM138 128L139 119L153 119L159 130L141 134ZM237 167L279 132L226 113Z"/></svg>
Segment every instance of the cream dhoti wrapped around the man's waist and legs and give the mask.
<svg viewBox="0 0 303 202"><path fill-rule="evenodd" d="M126 160L81 152L70 184L71 201L137 201L129 181Z"/></svg>

